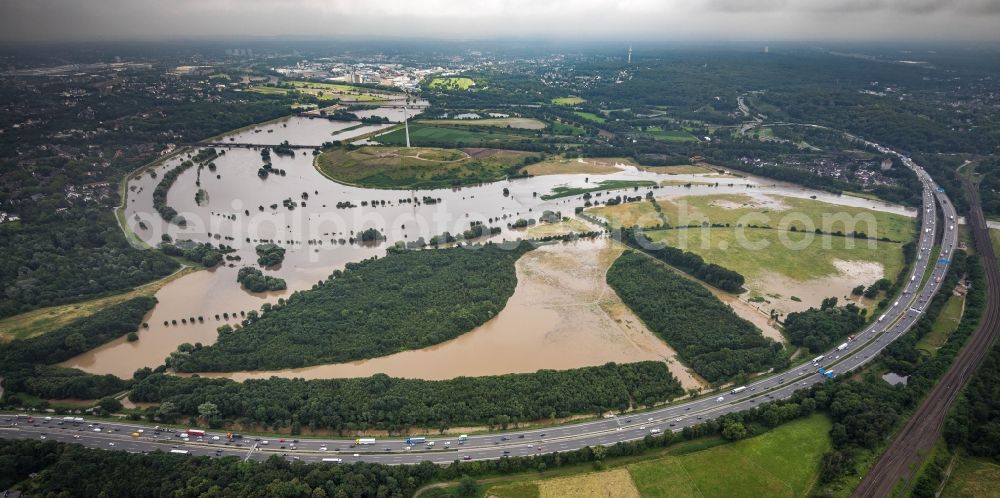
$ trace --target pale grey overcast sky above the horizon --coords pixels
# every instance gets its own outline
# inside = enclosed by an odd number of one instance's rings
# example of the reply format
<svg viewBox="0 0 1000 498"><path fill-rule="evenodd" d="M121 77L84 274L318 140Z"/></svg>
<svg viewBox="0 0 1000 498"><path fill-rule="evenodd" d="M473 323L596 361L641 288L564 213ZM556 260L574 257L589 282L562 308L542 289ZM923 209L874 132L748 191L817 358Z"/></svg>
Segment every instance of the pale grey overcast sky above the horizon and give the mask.
<svg viewBox="0 0 1000 498"><path fill-rule="evenodd" d="M0 0L0 40L997 40L1000 0Z"/></svg>

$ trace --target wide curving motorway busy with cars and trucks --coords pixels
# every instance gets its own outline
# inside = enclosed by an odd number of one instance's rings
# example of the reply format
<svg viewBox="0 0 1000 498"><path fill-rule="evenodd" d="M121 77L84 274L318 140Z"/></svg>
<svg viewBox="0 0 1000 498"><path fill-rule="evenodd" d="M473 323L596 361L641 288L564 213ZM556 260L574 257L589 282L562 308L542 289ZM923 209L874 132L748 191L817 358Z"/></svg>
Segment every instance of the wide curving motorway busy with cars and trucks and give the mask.
<svg viewBox="0 0 1000 498"><path fill-rule="evenodd" d="M948 269L949 258L955 250L956 213L945 193L938 189L926 172L908 157L877 144L861 141L883 153L900 157L907 167L916 172L924 185L919 256L912 274L908 276L903 293L881 317L859 332L846 345L827 352L815 362L762 377L736 393L727 390L647 412L590 422L504 434L474 434L461 442L457 437L434 438L433 447L428 447L426 444L410 445L401 437L383 438L377 440L375 444L359 445L355 444L353 439L295 440L292 437L280 439L249 435L244 435L239 440L227 441L224 433L209 432L200 440L199 438L184 440L178 432L156 431L152 425L101 422L99 427L95 427L87 422L60 424L61 420L58 417L53 417L52 420L36 417L32 423L28 423L25 418L19 419L12 414L0 415L0 437L30 439L44 437L94 448L132 452L179 450L196 455L239 456L249 459L264 459L278 454L285 455L289 459L309 462L321 462L325 459L385 464L413 464L422 461L450 463L455 460L495 459L568 451L586 446L612 445L619 441L642 439L651 433L680 431L684 427L726 413L787 398L796 390L827 381L826 376L817 373L818 369L832 372L832 376L843 375L871 361L892 341L906 333L920 318L925 306L938 291ZM943 216L938 215L938 208ZM928 261L938 235L941 238L940 256L934 261ZM133 434L140 429L142 432L134 436ZM214 439L216 437L218 439Z"/></svg>

